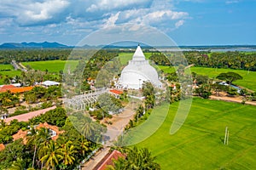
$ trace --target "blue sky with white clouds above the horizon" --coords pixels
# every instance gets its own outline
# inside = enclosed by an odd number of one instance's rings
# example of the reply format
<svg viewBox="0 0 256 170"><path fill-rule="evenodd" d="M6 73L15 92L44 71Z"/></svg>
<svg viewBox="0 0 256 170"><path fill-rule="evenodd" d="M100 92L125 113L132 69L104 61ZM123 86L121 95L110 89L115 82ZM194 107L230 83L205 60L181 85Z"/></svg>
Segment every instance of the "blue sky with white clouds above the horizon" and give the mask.
<svg viewBox="0 0 256 170"><path fill-rule="evenodd" d="M0 43L75 45L125 23L153 26L177 45L256 44L256 0L0 0Z"/></svg>

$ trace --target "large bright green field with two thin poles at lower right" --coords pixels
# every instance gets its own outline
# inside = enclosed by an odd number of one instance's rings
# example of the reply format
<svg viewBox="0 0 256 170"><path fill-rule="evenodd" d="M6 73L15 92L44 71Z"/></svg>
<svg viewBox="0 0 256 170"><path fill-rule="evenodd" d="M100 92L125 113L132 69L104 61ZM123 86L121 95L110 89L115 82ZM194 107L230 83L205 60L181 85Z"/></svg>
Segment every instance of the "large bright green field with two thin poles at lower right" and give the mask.
<svg viewBox="0 0 256 170"><path fill-rule="evenodd" d="M152 151L161 169L256 169L255 106L194 98L183 127L171 135L177 107L172 104L156 133L137 144ZM226 126L229 145L224 145Z"/></svg>

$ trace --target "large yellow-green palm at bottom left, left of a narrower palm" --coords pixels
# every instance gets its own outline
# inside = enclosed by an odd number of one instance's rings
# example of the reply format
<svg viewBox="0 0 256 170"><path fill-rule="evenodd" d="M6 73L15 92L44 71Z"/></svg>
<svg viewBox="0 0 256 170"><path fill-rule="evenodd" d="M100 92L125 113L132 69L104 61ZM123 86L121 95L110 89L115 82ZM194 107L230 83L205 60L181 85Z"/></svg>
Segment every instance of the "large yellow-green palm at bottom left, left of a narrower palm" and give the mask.
<svg viewBox="0 0 256 170"><path fill-rule="evenodd" d="M63 160L64 153L61 148L55 144L55 141L50 140L49 144L45 145L39 152L40 161L47 169L55 169L59 162Z"/></svg>

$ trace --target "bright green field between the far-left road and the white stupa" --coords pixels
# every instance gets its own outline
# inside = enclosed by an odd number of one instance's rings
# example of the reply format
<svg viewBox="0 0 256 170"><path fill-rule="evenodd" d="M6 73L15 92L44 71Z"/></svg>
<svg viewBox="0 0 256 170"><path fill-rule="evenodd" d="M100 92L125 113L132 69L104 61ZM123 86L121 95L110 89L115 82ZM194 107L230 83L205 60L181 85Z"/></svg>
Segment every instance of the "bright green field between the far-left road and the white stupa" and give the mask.
<svg viewBox="0 0 256 170"><path fill-rule="evenodd" d="M32 61L32 62L22 62L22 65L30 65L32 69L49 72L59 72L63 71L65 65L70 65L70 71L73 71L79 64L79 60L48 60L48 61ZM67 66L66 65L66 66Z"/></svg>

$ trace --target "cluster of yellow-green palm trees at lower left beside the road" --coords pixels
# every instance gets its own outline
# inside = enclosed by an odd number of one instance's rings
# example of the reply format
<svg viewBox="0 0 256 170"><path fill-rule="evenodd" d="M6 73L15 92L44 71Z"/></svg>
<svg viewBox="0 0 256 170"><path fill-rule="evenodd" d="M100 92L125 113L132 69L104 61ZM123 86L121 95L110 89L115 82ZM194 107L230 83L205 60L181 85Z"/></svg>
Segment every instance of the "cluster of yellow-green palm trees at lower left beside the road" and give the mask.
<svg viewBox="0 0 256 170"><path fill-rule="evenodd" d="M53 140L49 136L49 129L44 127L32 129L26 139L27 146L32 150L32 168L67 169L76 162L76 155L85 156L90 150L89 141L82 139L78 147L64 137Z"/></svg>

